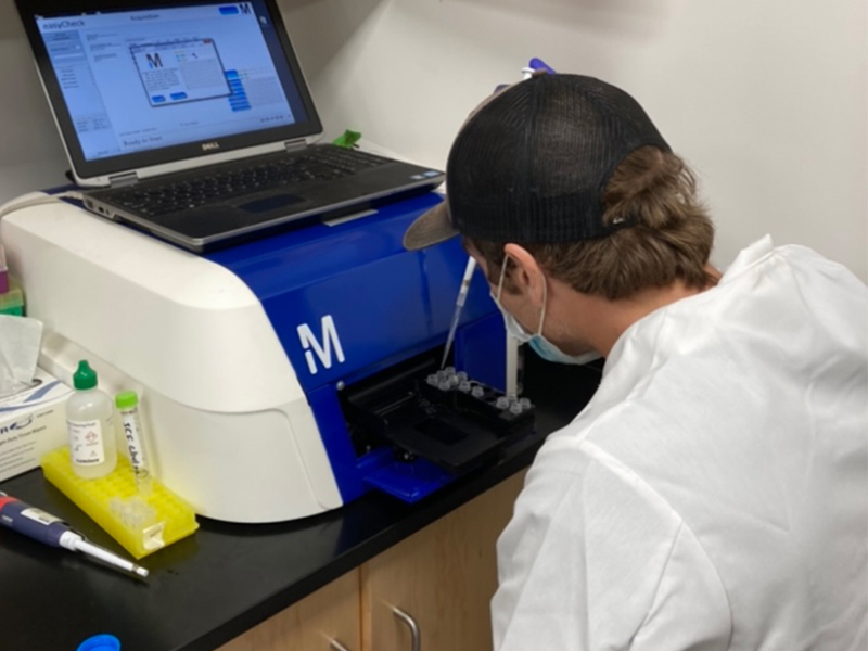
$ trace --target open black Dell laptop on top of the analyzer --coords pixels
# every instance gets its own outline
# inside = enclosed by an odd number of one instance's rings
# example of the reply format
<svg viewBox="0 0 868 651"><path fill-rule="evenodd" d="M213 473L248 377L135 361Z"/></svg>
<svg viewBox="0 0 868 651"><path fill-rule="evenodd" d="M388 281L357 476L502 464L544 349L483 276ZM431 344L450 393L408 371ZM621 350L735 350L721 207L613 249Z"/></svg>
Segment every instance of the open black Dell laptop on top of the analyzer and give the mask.
<svg viewBox="0 0 868 651"><path fill-rule="evenodd" d="M427 192L331 144L275 0L16 0L85 206L194 252Z"/></svg>

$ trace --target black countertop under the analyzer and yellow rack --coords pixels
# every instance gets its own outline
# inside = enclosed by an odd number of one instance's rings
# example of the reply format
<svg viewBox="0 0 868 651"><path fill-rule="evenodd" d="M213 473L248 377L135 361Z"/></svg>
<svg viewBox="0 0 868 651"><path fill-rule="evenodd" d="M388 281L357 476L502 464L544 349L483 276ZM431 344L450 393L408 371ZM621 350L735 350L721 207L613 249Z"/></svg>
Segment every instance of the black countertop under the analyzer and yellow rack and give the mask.
<svg viewBox="0 0 868 651"><path fill-rule="evenodd" d="M526 393L537 405L539 432L548 434L584 407L599 369L533 357ZM281 524L200 518L194 536L142 560L151 571L144 580L0 527L0 649L75 651L101 633L118 637L124 651L216 649L527 467L540 445L541 437L516 445L416 505L370 493ZM129 558L41 470L0 483L0 490Z"/></svg>

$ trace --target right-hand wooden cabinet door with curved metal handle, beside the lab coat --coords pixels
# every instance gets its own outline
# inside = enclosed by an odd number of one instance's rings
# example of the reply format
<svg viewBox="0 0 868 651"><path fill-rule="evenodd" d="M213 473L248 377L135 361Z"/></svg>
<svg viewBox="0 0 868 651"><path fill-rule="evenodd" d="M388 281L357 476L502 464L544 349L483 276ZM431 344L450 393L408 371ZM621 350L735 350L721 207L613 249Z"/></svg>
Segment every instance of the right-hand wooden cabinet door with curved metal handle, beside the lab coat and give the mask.
<svg viewBox="0 0 868 651"><path fill-rule="evenodd" d="M423 651L492 649L495 545L523 480L510 477L362 565L362 651L412 650L393 607L416 620Z"/></svg>

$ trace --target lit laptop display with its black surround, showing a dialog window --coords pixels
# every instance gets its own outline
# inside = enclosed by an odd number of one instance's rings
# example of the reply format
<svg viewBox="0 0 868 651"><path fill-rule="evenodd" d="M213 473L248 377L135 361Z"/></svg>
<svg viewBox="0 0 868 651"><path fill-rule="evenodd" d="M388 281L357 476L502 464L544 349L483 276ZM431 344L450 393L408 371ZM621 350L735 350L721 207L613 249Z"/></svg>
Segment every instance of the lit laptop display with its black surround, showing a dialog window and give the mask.
<svg viewBox="0 0 868 651"><path fill-rule="evenodd" d="M280 15L266 0L148 9L104 1L80 12L63 4L62 12L34 12L29 31L78 167L135 169L320 130Z"/></svg>

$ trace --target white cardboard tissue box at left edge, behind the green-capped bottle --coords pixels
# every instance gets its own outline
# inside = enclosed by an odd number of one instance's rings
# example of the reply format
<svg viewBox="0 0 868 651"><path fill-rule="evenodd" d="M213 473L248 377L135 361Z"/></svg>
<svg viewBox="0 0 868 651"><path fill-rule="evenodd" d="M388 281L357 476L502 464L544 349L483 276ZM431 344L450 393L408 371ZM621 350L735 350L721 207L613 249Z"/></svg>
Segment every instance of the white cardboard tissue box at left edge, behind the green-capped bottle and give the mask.
<svg viewBox="0 0 868 651"><path fill-rule="evenodd" d="M37 468L66 443L66 398L73 390L42 369L34 386L0 398L0 482Z"/></svg>

